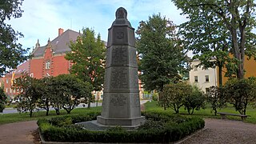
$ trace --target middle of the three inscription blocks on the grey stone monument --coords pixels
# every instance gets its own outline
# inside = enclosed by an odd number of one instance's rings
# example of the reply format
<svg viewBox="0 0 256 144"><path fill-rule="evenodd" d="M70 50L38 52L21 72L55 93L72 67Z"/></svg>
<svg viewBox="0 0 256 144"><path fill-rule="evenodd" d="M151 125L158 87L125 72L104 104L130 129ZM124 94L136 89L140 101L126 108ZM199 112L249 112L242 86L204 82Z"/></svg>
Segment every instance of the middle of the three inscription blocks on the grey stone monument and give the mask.
<svg viewBox="0 0 256 144"><path fill-rule="evenodd" d="M111 89L127 89L128 82L128 70L123 67L113 68L111 72Z"/></svg>

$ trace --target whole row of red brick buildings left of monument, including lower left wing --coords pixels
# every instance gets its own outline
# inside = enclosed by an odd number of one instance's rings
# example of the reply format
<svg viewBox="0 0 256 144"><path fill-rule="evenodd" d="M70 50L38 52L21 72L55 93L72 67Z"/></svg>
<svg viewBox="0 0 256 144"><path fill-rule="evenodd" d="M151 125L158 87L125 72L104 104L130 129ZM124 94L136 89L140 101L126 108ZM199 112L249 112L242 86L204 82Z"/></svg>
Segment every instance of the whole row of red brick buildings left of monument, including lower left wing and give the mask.
<svg viewBox="0 0 256 144"><path fill-rule="evenodd" d="M32 51L32 58L17 70L0 78L0 86L3 86L6 94L14 98L18 91L12 89L12 82L15 78L21 77L23 73L30 74L34 78L46 76L57 76L58 74L69 74L70 62L65 59L66 52L70 51L70 41L75 41L79 33L74 30L58 29L58 37L53 41L48 40L46 46L40 46L39 40Z"/></svg>

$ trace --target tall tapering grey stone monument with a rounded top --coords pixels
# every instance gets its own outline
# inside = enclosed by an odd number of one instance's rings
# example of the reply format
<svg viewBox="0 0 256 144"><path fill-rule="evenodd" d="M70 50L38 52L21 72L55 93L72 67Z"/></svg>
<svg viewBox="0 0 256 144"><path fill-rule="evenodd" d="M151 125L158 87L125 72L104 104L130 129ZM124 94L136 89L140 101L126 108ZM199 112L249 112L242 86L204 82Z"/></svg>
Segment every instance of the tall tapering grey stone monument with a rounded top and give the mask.
<svg viewBox="0 0 256 144"><path fill-rule="evenodd" d="M145 121L141 116L138 91L138 64L134 28L127 20L126 9L116 11L109 29L102 114L103 126L136 127Z"/></svg>

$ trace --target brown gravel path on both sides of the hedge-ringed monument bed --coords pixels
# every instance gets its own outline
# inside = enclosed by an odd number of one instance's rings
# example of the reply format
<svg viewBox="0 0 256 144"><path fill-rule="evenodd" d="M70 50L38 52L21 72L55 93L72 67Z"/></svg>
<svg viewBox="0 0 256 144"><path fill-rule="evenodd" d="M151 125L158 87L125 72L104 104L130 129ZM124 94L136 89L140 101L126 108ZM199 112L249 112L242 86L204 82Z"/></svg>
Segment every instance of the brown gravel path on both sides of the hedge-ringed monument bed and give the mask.
<svg viewBox="0 0 256 144"><path fill-rule="evenodd" d="M242 121L205 119L206 130L202 130L180 142L182 144L225 143L256 144L256 125ZM16 122L0 125L0 144L33 144L36 121Z"/></svg>

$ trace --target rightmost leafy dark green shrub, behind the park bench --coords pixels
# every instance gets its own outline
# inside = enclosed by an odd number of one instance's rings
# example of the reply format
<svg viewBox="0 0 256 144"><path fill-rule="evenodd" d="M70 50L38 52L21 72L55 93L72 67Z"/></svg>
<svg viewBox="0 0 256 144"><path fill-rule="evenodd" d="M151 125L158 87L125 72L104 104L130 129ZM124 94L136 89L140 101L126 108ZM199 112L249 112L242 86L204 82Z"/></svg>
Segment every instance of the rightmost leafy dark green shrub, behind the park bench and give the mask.
<svg viewBox="0 0 256 144"><path fill-rule="evenodd" d="M224 97L240 114L246 114L247 105L256 101L255 78L230 79L224 89Z"/></svg>

